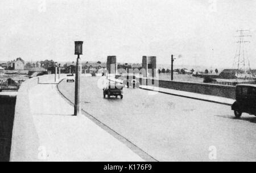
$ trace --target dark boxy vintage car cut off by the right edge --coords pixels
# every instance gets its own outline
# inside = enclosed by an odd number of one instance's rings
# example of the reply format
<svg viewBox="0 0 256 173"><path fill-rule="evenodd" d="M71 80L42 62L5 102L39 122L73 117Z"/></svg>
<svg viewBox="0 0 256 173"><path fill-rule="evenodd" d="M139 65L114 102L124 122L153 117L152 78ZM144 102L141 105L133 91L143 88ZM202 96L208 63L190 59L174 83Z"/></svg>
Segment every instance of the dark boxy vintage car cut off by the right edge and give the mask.
<svg viewBox="0 0 256 173"><path fill-rule="evenodd" d="M237 85L236 102L232 105L232 110L237 118L242 113L256 116L256 85Z"/></svg>

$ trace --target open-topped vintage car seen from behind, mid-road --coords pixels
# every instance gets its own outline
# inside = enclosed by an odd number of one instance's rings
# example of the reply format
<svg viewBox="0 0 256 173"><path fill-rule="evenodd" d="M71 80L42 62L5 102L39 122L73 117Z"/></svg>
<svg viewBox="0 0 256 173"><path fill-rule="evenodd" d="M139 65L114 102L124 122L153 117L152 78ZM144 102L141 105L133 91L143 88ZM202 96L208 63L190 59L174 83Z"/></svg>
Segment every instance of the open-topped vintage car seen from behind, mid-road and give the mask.
<svg viewBox="0 0 256 173"><path fill-rule="evenodd" d="M108 95L108 99L110 99L110 96L115 96L117 98L118 96L123 99L123 85L118 83L108 83L103 88L103 96L106 98L106 95Z"/></svg>

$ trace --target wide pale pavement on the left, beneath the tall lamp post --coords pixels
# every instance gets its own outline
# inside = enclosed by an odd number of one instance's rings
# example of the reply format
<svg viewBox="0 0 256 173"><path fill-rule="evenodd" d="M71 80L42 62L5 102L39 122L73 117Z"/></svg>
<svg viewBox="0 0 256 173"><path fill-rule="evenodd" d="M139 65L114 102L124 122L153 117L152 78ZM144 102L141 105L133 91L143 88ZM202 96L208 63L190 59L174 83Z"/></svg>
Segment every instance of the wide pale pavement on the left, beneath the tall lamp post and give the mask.
<svg viewBox="0 0 256 173"><path fill-rule="evenodd" d="M26 81L19 91L11 161L144 161L86 116L72 116L52 77Z"/></svg>

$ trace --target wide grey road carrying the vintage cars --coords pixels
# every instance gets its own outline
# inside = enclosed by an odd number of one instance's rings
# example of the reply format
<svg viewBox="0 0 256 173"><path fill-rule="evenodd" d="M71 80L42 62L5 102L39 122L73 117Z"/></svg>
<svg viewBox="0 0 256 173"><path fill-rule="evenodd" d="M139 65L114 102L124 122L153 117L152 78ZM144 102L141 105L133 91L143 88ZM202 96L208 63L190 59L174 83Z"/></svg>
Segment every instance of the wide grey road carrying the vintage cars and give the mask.
<svg viewBox="0 0 256 173"><path fill-rule="evenodd" d="M256 117L237 120L229 106L133 88L108 100L98 79L81 79L82 109L156 161L256 161ZM75 83L59 90L74 102Z"/></svg>

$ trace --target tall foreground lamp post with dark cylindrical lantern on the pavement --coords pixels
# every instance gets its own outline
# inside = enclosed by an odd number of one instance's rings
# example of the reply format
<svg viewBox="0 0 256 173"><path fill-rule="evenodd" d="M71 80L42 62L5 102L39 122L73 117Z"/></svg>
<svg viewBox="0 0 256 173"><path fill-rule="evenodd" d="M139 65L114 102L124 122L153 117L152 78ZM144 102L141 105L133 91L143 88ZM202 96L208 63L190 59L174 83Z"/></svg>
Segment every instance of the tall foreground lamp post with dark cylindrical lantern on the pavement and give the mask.
<svg viewBox="0 0 256 173"><path fill-rule="evenodd" d="M75 113L74 115L81 114L81 102L80 102L80 75L82 69L82 63L80 54L82 54L82 44L83 41L75 41L75 54L77 54L76 61L76 83L75 83Z"/></svg>

